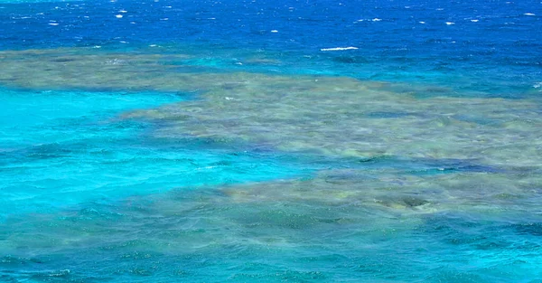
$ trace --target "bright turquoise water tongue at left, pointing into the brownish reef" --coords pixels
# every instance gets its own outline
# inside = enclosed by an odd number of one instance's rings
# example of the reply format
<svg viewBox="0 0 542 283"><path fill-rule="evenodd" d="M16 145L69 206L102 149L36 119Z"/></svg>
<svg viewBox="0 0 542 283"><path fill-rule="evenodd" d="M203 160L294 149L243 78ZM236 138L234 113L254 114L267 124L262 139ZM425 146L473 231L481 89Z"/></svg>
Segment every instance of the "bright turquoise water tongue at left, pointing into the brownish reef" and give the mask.
<svg viewBox="0 0 542 283"><path fill-rule="evenodd" d="M201 151L188 139L153 140L145 137L152 126L117 117L121 111L182 99L190 97L2 90L2 215L298 173L265 154L229 151L205 142L201 144L207 149Z"/></svg>

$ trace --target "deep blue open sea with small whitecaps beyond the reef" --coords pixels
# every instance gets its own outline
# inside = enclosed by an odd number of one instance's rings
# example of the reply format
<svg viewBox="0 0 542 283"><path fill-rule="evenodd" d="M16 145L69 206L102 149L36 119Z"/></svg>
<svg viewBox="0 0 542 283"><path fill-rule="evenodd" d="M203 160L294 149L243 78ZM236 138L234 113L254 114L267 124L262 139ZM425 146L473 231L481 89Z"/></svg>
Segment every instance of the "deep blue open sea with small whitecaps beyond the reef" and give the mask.
<svg viewBox="0 0 542 283"><path fill-rule="evenodd" d="M539 82L540 14L539 1L7 2L0 49L169 43L208 56L261 49L287 58L294 71L519 96ZM359 49L320 52L338 46Z"/></svg>

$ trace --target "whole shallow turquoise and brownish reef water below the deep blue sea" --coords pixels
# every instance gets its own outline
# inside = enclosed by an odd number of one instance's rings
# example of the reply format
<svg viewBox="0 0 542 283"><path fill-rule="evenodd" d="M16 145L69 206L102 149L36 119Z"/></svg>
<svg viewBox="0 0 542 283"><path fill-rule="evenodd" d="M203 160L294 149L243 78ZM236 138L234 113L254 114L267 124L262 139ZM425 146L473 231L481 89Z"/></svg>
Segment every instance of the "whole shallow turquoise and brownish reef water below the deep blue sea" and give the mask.
<svg viewBox="0 0 542 283"><path fill-rule="evenodd" d="M25 87L3 90L5 280L540 277L537 98L180 52L3 55Z"/></svg>

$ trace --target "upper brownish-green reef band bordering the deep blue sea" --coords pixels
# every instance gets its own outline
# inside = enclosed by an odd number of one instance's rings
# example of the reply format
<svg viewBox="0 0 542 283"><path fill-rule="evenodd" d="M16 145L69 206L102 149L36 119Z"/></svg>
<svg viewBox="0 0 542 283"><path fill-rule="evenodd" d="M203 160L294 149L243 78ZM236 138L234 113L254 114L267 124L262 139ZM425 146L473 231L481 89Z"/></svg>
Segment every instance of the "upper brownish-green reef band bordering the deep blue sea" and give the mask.
<svg viewBox="0 0 542 283"><path fill-rule="evenodd" d="M435 86L389 87L347 77L190 64L179 70L179 61L191 56L88 49L0 52L0 82L38 90L200 93L198 99L123 116L160 122L155 137L243 140L328 156L466 159L482 165L538 165L537 156L542 156L537 100L424 97Z"/></svg>

